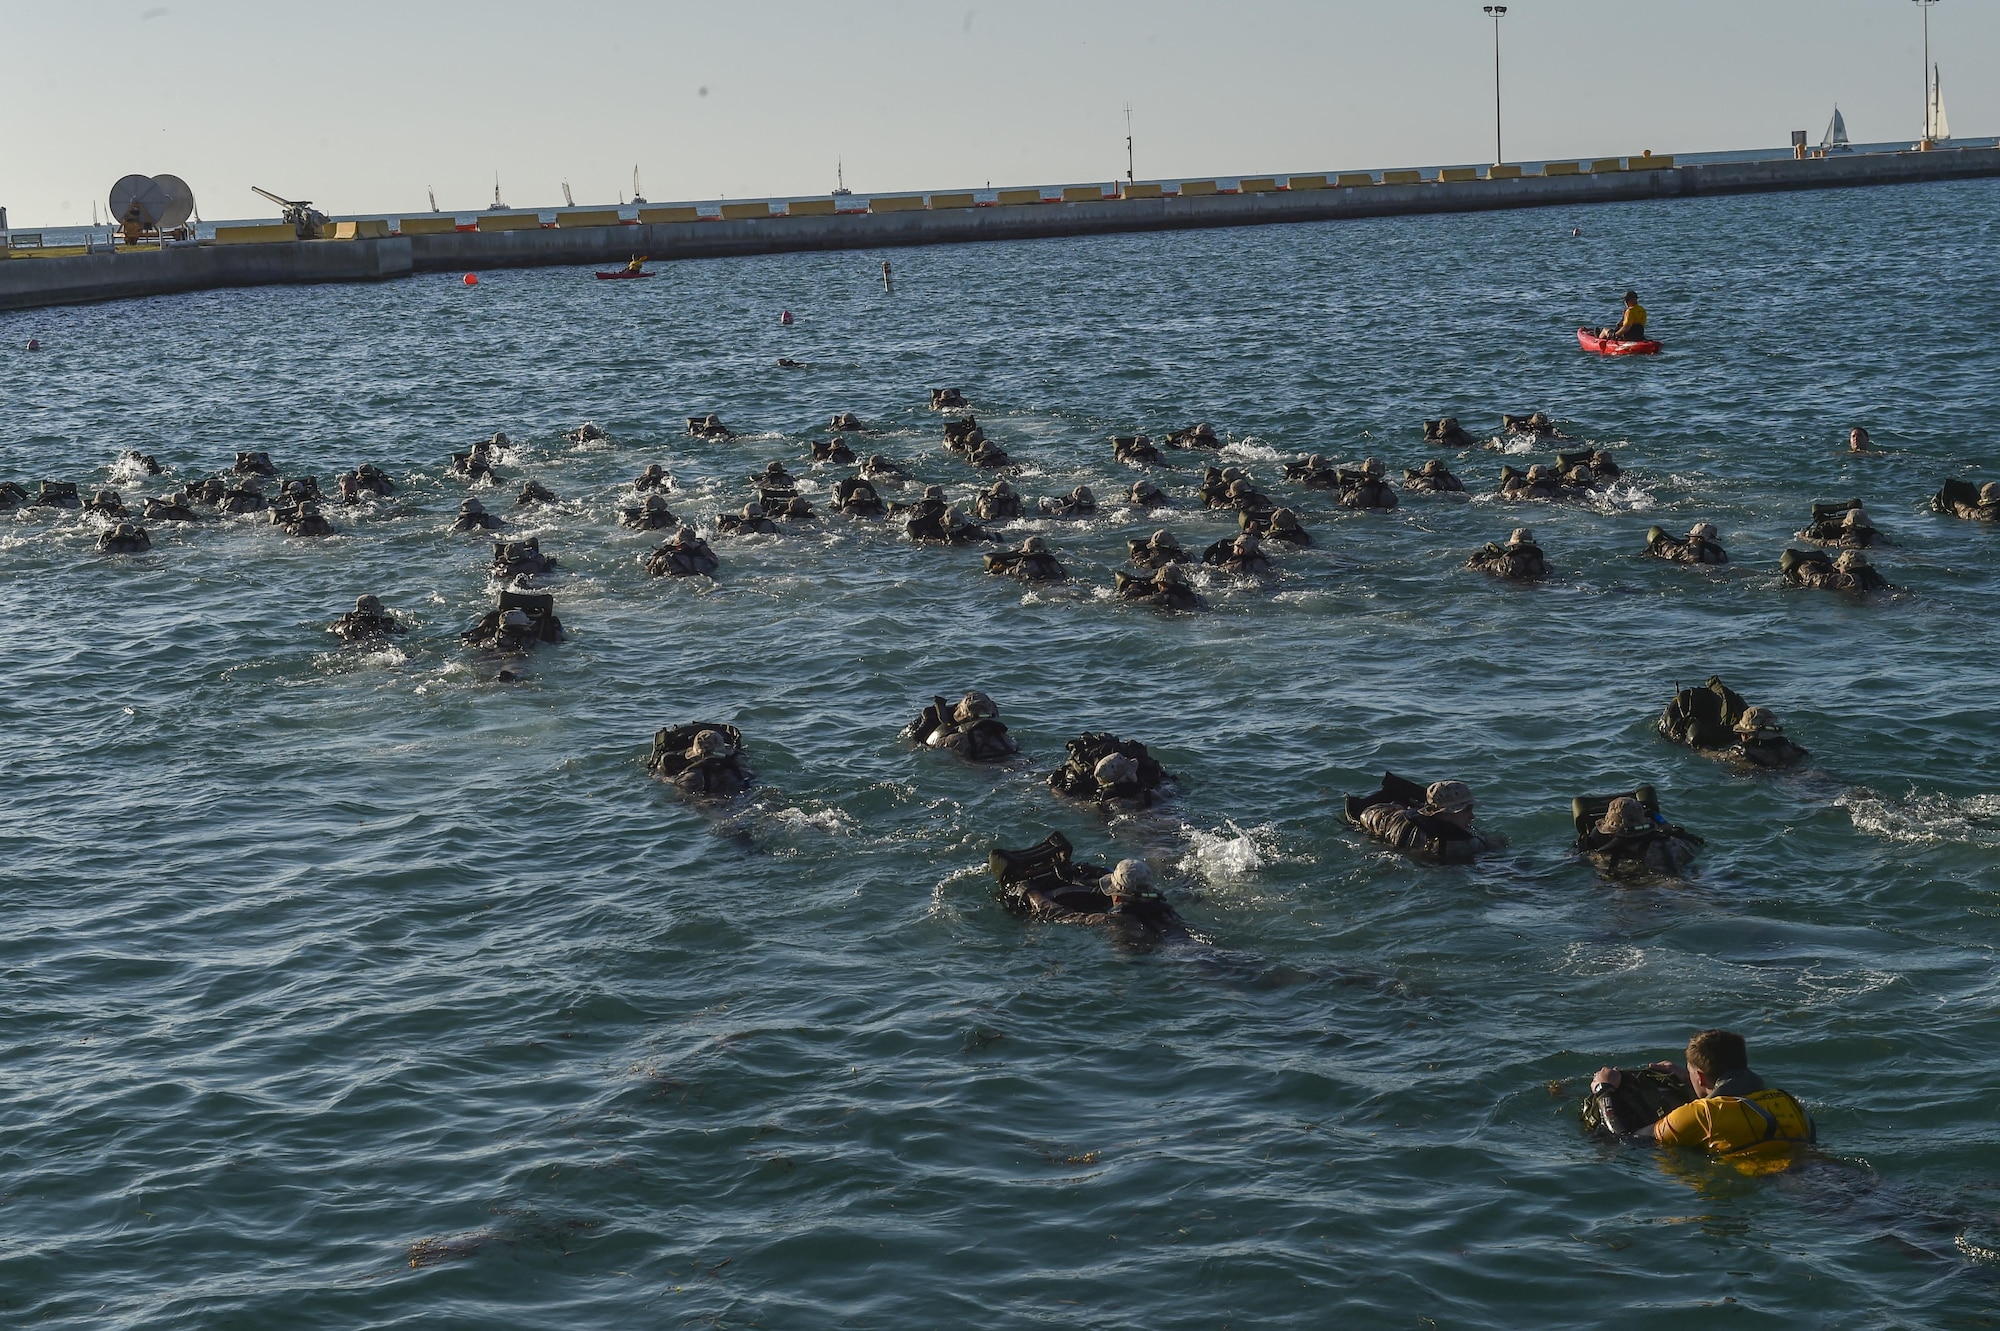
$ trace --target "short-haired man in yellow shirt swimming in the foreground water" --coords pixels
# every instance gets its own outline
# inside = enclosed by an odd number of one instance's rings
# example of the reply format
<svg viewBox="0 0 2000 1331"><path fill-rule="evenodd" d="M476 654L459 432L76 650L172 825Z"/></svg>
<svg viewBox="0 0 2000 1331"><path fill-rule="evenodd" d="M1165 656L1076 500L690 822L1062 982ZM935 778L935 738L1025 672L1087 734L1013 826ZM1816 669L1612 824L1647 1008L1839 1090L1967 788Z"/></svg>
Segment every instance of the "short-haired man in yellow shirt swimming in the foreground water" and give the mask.
<svg viewBox="0 0 2000 1331"><path fill-rule="evenodd" d="M1768 1159L1782 1167L1796 1147L1812 1145L1818 1135L1796 1099L1750 1071L1744 1037L1736 1031L1700 1031L1688 1041L1694 1099L1658 1123L1618 1121L1610 1093L1620 1079L1616 1067L1600 1067L1590 1079L1590 1095L1604 1109L1606 1127L1630 1141L1694 1147L1746 1163Z"/></svg>

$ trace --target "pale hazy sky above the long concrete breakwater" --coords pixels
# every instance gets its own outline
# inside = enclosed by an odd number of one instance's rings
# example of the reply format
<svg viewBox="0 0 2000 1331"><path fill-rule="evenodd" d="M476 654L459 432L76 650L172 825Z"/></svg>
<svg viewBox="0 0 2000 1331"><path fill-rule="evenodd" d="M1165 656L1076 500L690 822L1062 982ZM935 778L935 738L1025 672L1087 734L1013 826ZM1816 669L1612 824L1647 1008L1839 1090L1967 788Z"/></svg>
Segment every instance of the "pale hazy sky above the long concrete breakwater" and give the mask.
<svg viewBox="0 0 2000 1331"><path fill-rule="evenodd" d="M1518 0L1508 158L1922 126L1910 0ZM2000 4L1942 0L1952 128L2000 130ZM204 218L1238 176L1492 158L1468 0L0 0L0 204L90 220L126 172Z"/></svg>

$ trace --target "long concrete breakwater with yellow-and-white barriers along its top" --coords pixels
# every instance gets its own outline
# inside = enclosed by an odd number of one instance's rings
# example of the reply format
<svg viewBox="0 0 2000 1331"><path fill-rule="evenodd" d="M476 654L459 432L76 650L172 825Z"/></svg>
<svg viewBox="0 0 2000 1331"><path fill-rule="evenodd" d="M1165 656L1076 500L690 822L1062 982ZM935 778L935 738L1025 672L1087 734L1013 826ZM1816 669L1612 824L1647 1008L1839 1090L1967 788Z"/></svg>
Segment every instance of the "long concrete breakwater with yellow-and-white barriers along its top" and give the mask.
<svg viewBox="0 0 2000 1331"><path fill-rule="evenodd" d="M1516 168L1518 170L1518 168ZM1118 194L1002 190L996 204L972 194L880 196L852 212L794 204L728 204L718 218L694 208L660 210L674 220L616 224L612 214L554 226L514 214L506 228L424 230L352 240L200 244L120 254L80 254L0 262L0 310L164 296L226 286L378 282L418 272L622 264L632 254L658 262L804 250L868 250L978 240L1036 240L1164 232L1206 226L1338 222L1440 212L1554 208L1714 194L1836 190L2000 176L2000 148L1854 154L1842 158L1714 162L1674 166L1672 158L1550 164L1544 174L1494 168L1382 172L1244 180L1234 192L1214 182L1134 186ZM1206 186L1206 188L1200 188ZM1096 194L1092 198L1092 192ZM1010 198L1012 196L1012 198ZM758 212L760 210L760 212ZM660 216L654 214L654 216ZM526 224L522 224L526 222ZM268 230L268 228L256 228ZM348 228L352 230L352 228Z"/></svg>

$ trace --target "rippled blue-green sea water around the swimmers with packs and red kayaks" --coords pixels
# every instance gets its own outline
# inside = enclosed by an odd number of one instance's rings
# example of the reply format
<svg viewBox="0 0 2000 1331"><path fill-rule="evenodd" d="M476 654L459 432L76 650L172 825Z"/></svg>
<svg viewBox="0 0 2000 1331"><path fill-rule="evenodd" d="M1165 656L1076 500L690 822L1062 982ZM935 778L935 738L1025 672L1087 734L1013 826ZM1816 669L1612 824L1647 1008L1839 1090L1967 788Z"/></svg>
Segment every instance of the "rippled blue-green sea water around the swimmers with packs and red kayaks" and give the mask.
<svg viewBox="0 0 2000 1331"><path fill-rule="evenodd" d="M0 1319L32 1327L1974 1327L2000 1321L1996 184L784 256L0 316L0 478L134 502L268 450L402 494L294 542L258 518L108 558L0 520ZM1572 238L1572 228L1582 228ZM1670 352L1572 330L1638 286ZM796 328L780 328L792 310ZM44 352L20 352L34 334ZM780 358L806 362L782 372ZM710 528L854 410L966 492L924 390L962 384L1030 494L1134 474L1108 438L1210 420L1320 546L1212 610L986 578L894 530L716 538L650 580L614 512L648 462ZM1550 410L1598 504L1486 492L1342 514L1278 460L1426 456L1418 422ZM682 434L718 412L736 442ZM562 432L604 424L610 446ZM1850 424L1886 450L1844 458ZM450 452L560 510L572 640L498 683ZM126 448L158 482L114 476ZM1188 454L1178 462L1198 464ZM1196 470L1170 488L1188 496ZM504 506L506 490L488 494ZM1778 588L1860 496L1906 588ZM1636 558L1720 526L1720 572ZM1558 578L1460 570L1530 522ZM1184 542L1224 524L1182 508ZM340 650L360 592L414 622ZM1814 761L1746 777L1652 733L1722 673ZM1022 761L896 741L984 687ZM648 779L666 723L742 725L724 809ZM1102 821L1040 779L1082 729L1180 777ZM1342 791L1462 777L1512 849L1422 869ZM1650 779L1708 837L1680 883L1566 855L1568 799ZM1206 939L1030 925L986 849L1144 855ZM1588 1141L1582 1077L1732 1025L1820 1121L1744 1179Z"/></svg>

